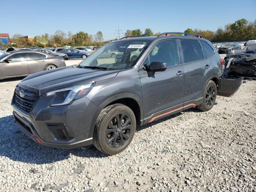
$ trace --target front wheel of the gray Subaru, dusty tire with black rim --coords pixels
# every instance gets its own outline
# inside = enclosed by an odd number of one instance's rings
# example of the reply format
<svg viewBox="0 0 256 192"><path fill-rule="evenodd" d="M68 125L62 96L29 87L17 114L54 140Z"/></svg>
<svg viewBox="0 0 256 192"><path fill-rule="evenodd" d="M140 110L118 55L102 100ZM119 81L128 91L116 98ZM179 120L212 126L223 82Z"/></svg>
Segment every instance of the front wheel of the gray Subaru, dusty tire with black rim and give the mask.
<svg viewBox="0 0 256 192"><path fill-rule="evenodd" d="M119 121L117 121L118 118ZM118 126L118 122L121 122L122 126ZM128 106L110 105L104 108L98 116L93 133L93 144L105 154L118 154L130 144L135 129L136 118Z"/></svg>

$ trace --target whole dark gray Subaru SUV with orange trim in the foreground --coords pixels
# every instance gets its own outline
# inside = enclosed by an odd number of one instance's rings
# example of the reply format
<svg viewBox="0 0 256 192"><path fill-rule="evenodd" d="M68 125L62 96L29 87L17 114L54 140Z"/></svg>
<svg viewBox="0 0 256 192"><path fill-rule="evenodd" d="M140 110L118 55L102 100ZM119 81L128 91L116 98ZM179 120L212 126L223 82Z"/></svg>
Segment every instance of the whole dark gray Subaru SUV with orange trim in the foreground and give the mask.
<svg viewBox="0 0 256 192"><path fill-rule="evenodd" d="M115 51L118 59L107 57ZM117 154L136 127L191 107L210 110L232 96L242 78L222 78L224 60L197 34L125 37L79 65L24 78L12 99L14 122L39 144L89 144Z"/></svg>

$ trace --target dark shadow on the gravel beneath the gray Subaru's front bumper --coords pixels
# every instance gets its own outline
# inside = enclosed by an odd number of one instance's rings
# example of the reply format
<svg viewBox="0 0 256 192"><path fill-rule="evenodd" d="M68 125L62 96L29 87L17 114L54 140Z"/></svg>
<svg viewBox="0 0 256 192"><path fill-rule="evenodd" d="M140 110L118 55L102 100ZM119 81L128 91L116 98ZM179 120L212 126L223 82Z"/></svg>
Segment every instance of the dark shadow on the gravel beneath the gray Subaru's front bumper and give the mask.
<svg viewBox="0 0 256 192"><path fill-rule="evenodd" d="M25 163L49 164L68 159L71 155L85 158L107 156L93 145L70 150L39 145L14 124L12 116L0 118L0 156Z"/></svg>

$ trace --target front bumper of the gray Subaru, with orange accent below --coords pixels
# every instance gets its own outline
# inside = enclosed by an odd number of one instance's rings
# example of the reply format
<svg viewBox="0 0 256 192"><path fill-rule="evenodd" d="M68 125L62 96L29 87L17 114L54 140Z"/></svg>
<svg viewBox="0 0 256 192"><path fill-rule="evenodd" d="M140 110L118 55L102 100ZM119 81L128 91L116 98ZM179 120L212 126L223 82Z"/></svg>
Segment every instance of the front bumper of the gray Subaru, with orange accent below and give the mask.
<svg viewBox="0 0 256 192"><path fill-rule="evenodd" d="M35 142L56 148L77 148L92 144L91 122L98 107L84 97L65 106L49 107L51 97L38 97L29 114L15 104L15 124Z"/></svg>

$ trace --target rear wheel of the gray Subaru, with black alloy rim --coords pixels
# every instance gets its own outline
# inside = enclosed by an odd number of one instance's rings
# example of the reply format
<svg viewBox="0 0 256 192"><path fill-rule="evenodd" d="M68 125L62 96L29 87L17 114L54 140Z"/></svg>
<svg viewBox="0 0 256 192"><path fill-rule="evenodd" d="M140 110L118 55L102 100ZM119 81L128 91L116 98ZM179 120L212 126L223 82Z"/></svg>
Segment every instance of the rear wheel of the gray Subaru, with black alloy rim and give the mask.
<svg viewBox="0 0 256 192"><path fill-rule="evenodd" d="M213 88L214 94L211 94L210 88ZM204 100L202 104L199 104L196 106L197 109L201 111L208 111L210 110L216 101L216 96L217 96L217 86L214 83L214 81L210 80L204 90Z"/></svg>

